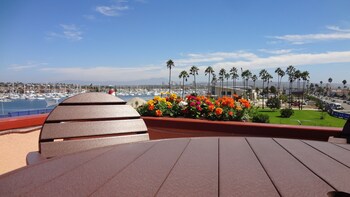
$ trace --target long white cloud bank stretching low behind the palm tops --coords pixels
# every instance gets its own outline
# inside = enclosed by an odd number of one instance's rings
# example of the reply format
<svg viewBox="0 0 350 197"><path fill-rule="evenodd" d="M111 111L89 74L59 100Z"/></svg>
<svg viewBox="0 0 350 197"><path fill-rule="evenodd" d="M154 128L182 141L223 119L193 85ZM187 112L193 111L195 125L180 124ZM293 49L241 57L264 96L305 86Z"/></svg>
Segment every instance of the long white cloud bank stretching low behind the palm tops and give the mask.
<svg viewBox="0 0 350 197"><path fill-rule="evenodd" d="M215 56L216 55L216 56ZM209 54L188 54L188 59L183 59L182 64L178 60L173 60L175 67L172 69L172 80L179 80L178 74L182 70L187 70L196 62L196 66L200 69L199 80L204 78L204 70L207 66L213 66L217 72L221 68L226 70L233 66L237 68L260 70L277 67L293 66L318 66L320 64L329 63L350 63L350 51L330 51L324 53L289 53L270 55L268 57L259 57L253 53L244 52L216 52ZM193 59L196 58L196 59ZM210 62L208 59L217 58ZM212 60L213 60L212 59ZM165 61L163 61L165 62ZM165 63L161 65L148 65L139 67L120 68L118 66L97 66L91 68L83 67L46 67L39 71L45 72L47 76L55 76L60 80L83 80L83 81L133 81L151 78L167 78L169 70L166 69ZM190 81L192 78L189 79Z"/></svg>

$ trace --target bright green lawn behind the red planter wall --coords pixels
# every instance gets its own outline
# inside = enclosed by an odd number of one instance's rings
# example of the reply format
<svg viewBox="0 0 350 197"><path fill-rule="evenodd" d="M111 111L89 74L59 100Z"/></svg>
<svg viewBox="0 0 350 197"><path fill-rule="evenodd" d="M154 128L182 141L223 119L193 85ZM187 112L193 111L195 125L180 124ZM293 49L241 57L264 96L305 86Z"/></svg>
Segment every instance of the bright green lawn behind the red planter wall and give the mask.
<svg viewBox="0 0 350 197"><path fill-rule="evenodd" d="M344 119L328 115L327 112L323 112L324 119L321 119L322 112L312 110L294 110L290 118L281 118L279 110L260 109L258 112L269 115L272 124L299 125L300 121L301 125L308 126L343 127L346 122Z"/></svg>

